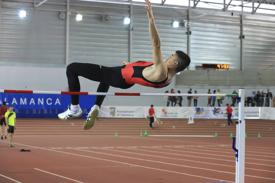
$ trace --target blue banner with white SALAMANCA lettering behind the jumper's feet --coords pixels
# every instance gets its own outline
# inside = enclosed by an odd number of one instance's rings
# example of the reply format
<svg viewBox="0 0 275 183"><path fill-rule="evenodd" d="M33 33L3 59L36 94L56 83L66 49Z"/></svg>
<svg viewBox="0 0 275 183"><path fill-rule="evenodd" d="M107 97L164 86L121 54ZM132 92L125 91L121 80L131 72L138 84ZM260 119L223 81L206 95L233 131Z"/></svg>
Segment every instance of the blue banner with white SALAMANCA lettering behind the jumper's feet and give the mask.
<svg viewBox="0 0 275 183"><path fill-rule="evenodd" d="M88 113L94 105L95 95L80 95L79 104L83 113ZM17 118L57 118L58 113L68 109L70 95L0 93L0 104L14 106ZM86 118L82 115L80 118Z"/></svg>

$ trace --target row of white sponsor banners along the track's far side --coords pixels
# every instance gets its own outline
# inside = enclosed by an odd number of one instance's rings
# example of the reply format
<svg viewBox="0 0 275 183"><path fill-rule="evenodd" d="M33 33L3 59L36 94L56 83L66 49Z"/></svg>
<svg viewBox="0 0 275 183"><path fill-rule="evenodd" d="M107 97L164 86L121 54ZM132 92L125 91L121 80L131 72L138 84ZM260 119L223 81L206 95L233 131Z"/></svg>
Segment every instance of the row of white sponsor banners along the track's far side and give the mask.
<svg viewBox="0 0 275 183"><path fill-rule="evenodd" d="M150 106L101 106L98 117L146 118ZM232 107L232 119L238 118L238 107ZM245 107L245 119L275 119L275 109L269 107ZM158 118L227 119L226 107L154 107Z"/></svg>

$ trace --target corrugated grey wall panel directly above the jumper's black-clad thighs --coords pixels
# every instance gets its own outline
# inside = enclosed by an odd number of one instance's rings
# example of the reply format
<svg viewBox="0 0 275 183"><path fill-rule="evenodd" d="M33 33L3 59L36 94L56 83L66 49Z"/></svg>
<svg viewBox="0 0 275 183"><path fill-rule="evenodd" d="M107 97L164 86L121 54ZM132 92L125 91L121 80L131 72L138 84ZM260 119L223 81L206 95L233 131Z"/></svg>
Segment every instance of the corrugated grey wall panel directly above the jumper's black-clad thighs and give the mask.
<svg viewBox="0 0 275 183"><path fill-rule="evenodd" d="M85 62L119 66L129 57L129 25L123 16L83 14L82 21L70 16L69 63Z"/></svg>

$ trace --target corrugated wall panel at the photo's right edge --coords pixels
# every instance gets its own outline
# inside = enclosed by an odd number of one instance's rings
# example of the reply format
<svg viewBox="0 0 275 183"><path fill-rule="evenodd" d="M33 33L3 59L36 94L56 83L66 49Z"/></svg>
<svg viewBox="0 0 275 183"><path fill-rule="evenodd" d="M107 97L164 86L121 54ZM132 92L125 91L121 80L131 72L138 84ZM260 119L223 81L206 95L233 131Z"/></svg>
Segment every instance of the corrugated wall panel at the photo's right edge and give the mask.
<svg viewBox="0 0 275 183"><path fill-rule="evenodd" d="M274 70L275 18L244 16L245 70Z"/></svg>

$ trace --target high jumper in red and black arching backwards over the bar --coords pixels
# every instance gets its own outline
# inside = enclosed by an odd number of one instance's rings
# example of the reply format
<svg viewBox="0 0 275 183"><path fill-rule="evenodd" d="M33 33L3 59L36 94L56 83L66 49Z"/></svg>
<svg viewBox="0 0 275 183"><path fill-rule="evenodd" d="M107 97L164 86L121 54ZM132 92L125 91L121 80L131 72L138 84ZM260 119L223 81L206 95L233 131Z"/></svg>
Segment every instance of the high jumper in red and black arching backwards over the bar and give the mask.
<svg viewBox="0 0 275 183"><path fill-rule="evenodd" d="M190 64L190 57L182 52L176 51L163 61L160 47L160 35L154 21L151 2L145 0L147 15L149 18L149 34L153 46L153 62L138 61L135 63L123 62L123 66L105 67L90 63L71 63L67 66L67 78L70 91L80 91L78 76L92 81L100 82L97 92L108 92L110 86L127 89L134 84L163 88L171 83L176 73L185 70ZM88 130L94 126L105 95L97 95L94 106L88 113L83 124L83 129ZM71 95L71 104L68 109L58 114L61 120L69 120L82 115L79 106L79 95Z"/></svg>

